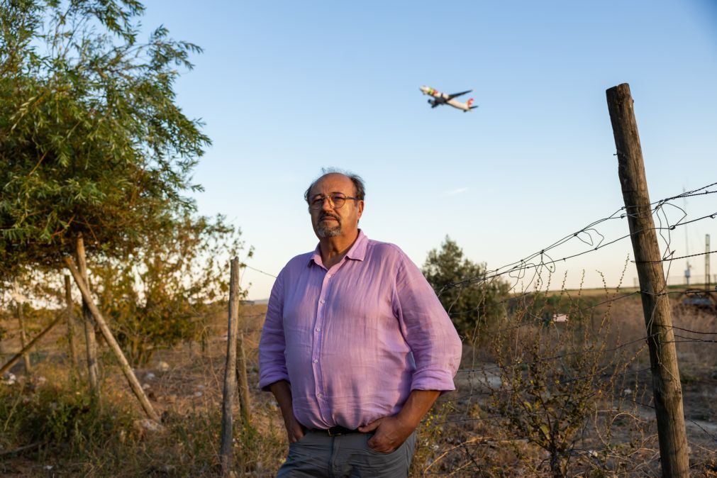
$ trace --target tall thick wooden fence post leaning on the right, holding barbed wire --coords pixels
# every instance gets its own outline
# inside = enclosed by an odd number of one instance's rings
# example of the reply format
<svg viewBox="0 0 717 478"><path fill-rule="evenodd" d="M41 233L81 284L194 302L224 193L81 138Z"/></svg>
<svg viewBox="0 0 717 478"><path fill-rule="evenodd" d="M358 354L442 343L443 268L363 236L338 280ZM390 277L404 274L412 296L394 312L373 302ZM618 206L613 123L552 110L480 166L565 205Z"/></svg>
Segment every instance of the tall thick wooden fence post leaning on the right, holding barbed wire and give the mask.
<svg viewBox="0 0 717 478"><path fill-rule="evenodd" d="M640 279L663 477L688 477L685 416L670 302L647 193L630 85L623 83L607 90L607 107L617 148L617 173L630 225L637 277Z"/></svg>

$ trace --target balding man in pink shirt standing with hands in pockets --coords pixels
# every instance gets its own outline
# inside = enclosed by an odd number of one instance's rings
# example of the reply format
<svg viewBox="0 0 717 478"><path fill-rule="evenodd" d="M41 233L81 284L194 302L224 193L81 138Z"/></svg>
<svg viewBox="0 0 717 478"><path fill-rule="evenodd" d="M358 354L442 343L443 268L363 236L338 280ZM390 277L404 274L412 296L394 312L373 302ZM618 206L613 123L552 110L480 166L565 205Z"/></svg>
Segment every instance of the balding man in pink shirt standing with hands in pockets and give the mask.
<svg viewBox="0 0 717 478"><path fill-rule="evenodd" d="M394 197L399 224L410 200ZM326 173L305 199L319 244L277 277L259 345L290 444L277 476L405 477L416 427L454 390L460 339L401 249L359 229L359 176Z"/></svg>

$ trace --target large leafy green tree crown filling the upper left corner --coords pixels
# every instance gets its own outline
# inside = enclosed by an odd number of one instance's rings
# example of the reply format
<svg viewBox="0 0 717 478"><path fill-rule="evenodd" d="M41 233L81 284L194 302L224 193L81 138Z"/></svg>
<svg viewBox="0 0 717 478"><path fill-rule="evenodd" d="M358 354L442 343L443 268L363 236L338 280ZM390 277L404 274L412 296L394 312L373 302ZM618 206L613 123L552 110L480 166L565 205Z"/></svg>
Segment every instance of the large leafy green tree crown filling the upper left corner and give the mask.
<svg viewBox="0 0 717 478"><path fill-rule="evenodd" d="M209 138L174 103L196 45L138 41L134 0L0 3L0 279L85 236L120 255L194 208Z"/></svg>

